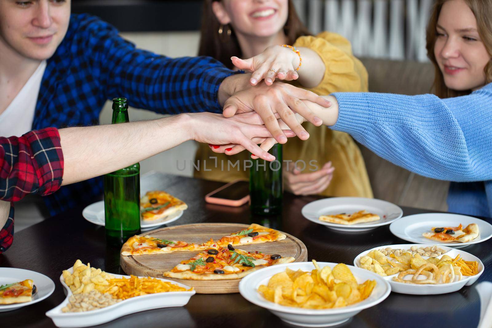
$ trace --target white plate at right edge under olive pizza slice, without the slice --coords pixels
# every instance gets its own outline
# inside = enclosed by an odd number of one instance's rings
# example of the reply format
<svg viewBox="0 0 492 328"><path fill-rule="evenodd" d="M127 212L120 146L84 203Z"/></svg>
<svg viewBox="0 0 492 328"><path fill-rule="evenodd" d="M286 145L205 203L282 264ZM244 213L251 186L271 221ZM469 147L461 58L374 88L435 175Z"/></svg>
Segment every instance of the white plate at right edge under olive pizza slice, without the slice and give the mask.
<svg viewBox="0 0 492 328"><path fill-rule="evenodd" d="M432 227L458 227L460 223L465 228L470 223L478 224L480 234L477 238L468 242L441 242L422 236L425 232L431 232ZM451 213L423 213L402 217L390 225L390 231L396 237L415 242L432 243L454 248L461 248L477 242L482 242L492 237L492 225L476 217L451 214Z"/></svg>

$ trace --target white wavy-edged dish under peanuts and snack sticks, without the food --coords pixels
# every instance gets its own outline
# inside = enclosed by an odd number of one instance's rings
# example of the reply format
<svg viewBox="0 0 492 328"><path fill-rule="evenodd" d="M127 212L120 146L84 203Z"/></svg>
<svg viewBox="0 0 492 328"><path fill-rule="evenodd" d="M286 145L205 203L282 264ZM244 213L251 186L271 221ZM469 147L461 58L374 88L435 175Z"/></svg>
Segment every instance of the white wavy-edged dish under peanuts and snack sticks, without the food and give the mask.
<svg viewBox="0 0 492 328"><path fill-rule="evenodd" d="M69 268L68 271L73 273L73 268ZM114 274L116 278L129 278L130 276ZM169 281L178 286L186 289L190 286L180 284L175 281L157 278L163 281ZM55 326L61 328L75 328L75 327L90 327L95 325L104 324L106 322L123 317L127 314L160 309L163 307L184 306L188 303L189 299L195 295L195 291L190 292L167 292L167 293L155 293L143 296L136 296L128 298L118 302L116 304L103 307L101 309L87 311L87 312L62 312L62 308L68 303L68 298L72 296L72 291L65 284L63 275L60 276L63 288L65 289L66 298L57 307L46 312L46 315L50 317Z"/></svg>

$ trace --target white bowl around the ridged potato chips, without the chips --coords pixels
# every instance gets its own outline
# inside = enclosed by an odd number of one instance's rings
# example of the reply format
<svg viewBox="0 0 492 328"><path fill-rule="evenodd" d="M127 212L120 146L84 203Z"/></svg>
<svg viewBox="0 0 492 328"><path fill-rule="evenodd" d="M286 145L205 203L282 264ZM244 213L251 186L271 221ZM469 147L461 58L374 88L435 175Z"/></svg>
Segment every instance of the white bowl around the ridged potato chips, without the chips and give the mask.
<svg viewBox="0 0 492 328"><path fill-rule="evenodd" d="M330 266L333 268L338 263L318 262L318 264L321 268L325 266ZM285 271L285 268L311 271L314 269L312 262L287 263L262 268L261 270L248 274L241 280L239 283L239 293L241 293L241 295L251 303L268 309L286 323L303 327L335 326L347 321L360 311L382 302L388 297L388 295L390 295L391 292L390 284L381 276L361 268L355 268L352 266L348 267L354 274L359 284L368 279L376 280L376 287L374 287L374 290L369 298L345 307L315 310L283 306L263 298L263 296L258 292L258 287L260 285L267 285L268 280L274 274Z"/></svg>

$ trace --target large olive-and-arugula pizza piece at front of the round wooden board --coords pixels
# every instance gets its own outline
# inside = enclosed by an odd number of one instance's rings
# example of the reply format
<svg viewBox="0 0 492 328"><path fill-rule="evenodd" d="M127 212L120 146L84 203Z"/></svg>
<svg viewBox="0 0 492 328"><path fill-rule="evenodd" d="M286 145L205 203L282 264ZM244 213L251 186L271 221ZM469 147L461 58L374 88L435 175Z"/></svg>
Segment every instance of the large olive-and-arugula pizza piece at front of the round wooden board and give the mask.
<svg viewBox="0 0 492 328"><path fill-rule="evenodd" d="M189 260L181 261L176 267L163 272L162 275L188 280L241 279L260 268L294 261L295 258L291 256L267 255L258 251L247 252L229 244L227 247L210 248L198 253Z"/></svg>

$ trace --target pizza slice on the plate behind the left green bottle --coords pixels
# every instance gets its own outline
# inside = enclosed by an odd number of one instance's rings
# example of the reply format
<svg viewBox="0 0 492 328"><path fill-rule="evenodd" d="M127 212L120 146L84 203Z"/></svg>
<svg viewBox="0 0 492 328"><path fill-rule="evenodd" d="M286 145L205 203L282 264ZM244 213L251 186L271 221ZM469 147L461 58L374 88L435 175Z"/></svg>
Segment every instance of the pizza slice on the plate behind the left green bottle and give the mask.
<svg viewBox="0 0 492 328"><path fill-rule="evenodd" d="M182 200L165 191L148 191L140 199L140 213L144 221L158 220L187 208Z"/></svg>

